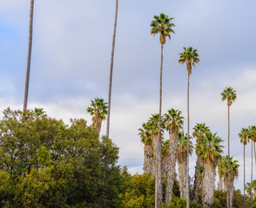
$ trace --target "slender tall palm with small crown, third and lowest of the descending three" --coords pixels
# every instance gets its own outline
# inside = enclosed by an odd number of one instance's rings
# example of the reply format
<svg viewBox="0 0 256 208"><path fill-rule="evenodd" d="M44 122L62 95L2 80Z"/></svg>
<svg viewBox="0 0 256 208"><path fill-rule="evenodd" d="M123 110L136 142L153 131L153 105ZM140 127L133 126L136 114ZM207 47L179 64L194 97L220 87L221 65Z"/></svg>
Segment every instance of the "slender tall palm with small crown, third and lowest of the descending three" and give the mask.
<svg viewBox="0 0 256 208"><path fill-rule="evenodd" d="M227 101L227 117L228 117L228 144L227 144L227 149L228 149L228 158L230 155L230 107L232 105L232 103L237 99L237 94L236 94L236 90L234 90L233 88L229 87L229 88L225 88L223 90L223 92L220 94L221 95L221 100L222 101ZM228 160L228 170L229 170L229 160ZM227 208L231 208L230 207L230 173L228 171L228 187L227 187Z"/></svg>

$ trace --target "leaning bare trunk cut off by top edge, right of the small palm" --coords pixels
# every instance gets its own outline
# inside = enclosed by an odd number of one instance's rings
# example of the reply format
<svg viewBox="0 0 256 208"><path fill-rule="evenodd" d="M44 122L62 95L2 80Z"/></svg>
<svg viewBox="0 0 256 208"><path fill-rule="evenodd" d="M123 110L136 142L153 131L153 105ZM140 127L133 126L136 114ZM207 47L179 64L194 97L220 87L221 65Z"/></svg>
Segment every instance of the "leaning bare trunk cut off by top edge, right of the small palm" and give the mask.
<svg viewBox="0 0 256 208"><path fill-rule="evenodd" d="M118 23L118 0L116 0L116 15L115 15L113 37L112 37L112 49L111 49L111 71L110 71L110 81L109 81L108 115L107 115L107 125L106 125L106 136L108 138L110 133L111 90L112 90L112 75L113 75L113 64L114 64L114 55L115 55L117 23Z"/></svg>

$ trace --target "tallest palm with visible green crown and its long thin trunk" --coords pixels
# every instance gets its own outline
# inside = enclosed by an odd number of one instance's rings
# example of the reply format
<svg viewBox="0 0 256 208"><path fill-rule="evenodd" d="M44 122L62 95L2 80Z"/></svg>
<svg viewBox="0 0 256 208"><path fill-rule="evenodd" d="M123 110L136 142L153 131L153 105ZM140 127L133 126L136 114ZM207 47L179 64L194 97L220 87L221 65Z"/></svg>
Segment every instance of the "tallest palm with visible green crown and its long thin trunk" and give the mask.
<svg viewBox="0 0 256 208"><path fill-rule="evenodd" d="M161 44L161 65L160 65L160 90L159 90L159 128L161 125L161 113L162 113L162 74L163 74L163 49L165 45L165 36L168 36L171 40L171 34L174 33L172 30L172 27L175 25L172 23L172 17L166 16L165 14L160 14L159 16L154 16L154 20L151 23L151 34L155 36L159 33L159 41ZM158 133L158 153L160 152L160 132ZM159 175L158 175L158 161L157 159L157 174L156 174L156 188L155 192L158 192L158 183L159 183ZM161 201L159 201L158 194L155 195L155 208L158 208L158 206L161 204Z"/></svg>

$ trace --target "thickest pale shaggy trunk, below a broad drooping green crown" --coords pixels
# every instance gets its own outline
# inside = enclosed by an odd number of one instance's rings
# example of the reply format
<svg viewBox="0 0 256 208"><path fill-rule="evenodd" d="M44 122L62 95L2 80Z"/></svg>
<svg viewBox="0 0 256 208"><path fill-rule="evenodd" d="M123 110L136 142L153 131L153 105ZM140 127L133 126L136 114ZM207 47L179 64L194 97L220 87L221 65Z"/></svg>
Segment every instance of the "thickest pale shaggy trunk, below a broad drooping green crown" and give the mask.
<svg viewBox="0 0 256 208"><path fill-rule="evenodd" d="M215 167L210 161L204 162L204 174L203 174L203 192L202 201L203 208L212 207L213 193L214 193L214 179L215 179Z"/></svg>

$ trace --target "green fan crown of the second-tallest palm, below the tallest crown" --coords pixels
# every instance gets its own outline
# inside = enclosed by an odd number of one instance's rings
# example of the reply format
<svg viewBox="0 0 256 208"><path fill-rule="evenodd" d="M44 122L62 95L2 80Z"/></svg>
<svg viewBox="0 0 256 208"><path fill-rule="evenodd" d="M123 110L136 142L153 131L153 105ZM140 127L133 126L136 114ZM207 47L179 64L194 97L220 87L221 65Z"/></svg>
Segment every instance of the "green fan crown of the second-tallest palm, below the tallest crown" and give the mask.
<svg viewBox="0 0 256 208"><path fill-rule="evenodd" d="M192 47L183 48L184 52L179 54L179 63L184 64L186 63L186 68L188 74L192 73L192 66L195 67L195 64L198 63L199 54L197 49L193 49Z"/></svg>

